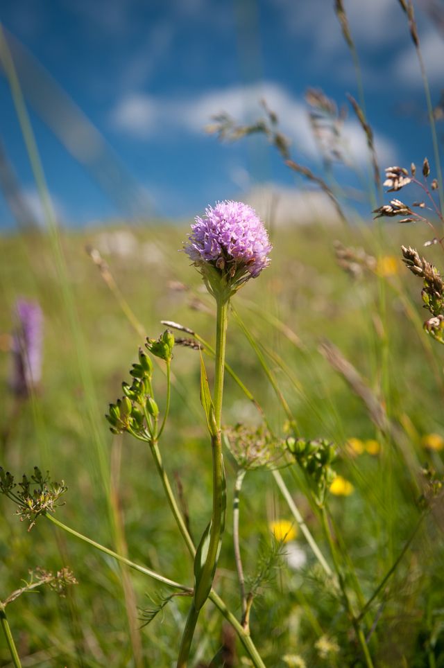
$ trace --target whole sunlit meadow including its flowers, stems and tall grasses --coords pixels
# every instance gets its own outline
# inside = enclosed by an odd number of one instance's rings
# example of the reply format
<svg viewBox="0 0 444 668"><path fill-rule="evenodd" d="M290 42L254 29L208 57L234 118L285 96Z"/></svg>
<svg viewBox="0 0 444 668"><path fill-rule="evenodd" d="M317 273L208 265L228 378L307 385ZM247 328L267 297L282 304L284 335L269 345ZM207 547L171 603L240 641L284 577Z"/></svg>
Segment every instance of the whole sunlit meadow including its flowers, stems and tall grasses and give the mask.
<svg viewBox="0 0 444 668"><path fill-rule="evenodd" d="M316 173L266 100L207 131L261 135L332 213L223 201L191 237L58 225L0 29L45 214L0 237L0 665L444 667L439 109L400 9L432 169L378 164L337 0L364 218L334 179L345 116L309 89Z"/></svg>

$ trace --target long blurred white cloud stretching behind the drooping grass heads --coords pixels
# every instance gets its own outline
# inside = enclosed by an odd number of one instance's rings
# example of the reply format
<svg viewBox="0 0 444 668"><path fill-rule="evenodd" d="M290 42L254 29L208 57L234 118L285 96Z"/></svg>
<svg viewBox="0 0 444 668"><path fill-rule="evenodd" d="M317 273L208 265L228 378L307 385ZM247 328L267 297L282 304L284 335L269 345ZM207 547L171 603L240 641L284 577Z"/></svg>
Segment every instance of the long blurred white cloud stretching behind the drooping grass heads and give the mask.
<svg viewBox="0 0 444 668"><path fill-rule="evenodd" d="M314 158L318 149L309 125L307 106L301 98L273 82L247 87L231 86L207 91L198 97L168 99L151 98L143 94L124 97L111 114L115 128L141 139L171 129L201 134L212 116L227 112L237 123L248 123L264 116L260 100L278 114L280 129L293 143L297 155ZM343 149L351 162L364 164L367 143L359 123L350 118L343 125ZM379 159L384 164L395 159L393 143L375 134Z"/></svg>

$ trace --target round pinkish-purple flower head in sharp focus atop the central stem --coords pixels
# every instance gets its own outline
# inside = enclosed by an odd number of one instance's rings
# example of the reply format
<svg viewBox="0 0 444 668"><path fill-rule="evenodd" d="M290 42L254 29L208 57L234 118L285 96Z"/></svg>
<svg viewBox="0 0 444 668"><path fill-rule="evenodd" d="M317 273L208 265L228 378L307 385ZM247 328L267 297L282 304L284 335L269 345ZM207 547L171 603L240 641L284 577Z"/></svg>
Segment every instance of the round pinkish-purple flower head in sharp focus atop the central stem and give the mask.
<svg viewBox="0 0 444 668"><path fill-rule="evenodd" d="M271 244L264 223L243 202L217 202L196 217L185 252L203 270L211 265L234 289L268 265Z"/></svg>

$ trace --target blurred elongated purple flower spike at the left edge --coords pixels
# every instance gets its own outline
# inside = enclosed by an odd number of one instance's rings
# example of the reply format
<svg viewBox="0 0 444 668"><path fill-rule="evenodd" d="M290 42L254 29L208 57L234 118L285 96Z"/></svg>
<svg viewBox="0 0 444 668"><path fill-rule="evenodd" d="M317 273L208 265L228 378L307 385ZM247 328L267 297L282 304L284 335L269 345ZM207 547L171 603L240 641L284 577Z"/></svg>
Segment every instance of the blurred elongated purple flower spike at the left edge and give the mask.
<svg viewBox="0 0 444 668"><path fill-rule="evenodd" d="M43 314L37 301L17 299L12 333L12 378L14 392L27 395L42 378Z"/></svg>

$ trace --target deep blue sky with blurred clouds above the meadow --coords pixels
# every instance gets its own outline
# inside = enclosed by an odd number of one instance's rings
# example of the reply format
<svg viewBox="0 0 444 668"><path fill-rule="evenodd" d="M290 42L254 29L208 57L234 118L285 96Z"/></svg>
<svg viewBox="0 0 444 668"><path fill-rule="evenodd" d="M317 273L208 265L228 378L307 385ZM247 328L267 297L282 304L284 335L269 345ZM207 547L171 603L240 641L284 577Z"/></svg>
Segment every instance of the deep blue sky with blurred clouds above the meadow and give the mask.
<svg viewBox="0 0 444 668"><path fill-rule="evenodd" d="M417 2L432 98L444 88L444 35ZM296 161L321 170L304 94L338 105L357 96L333 0L3 0L0 18L31 114L49 189L63 222L131 216L188 218L207 203L244 199L275 184L298 207L307 187L265 139L221 144L210 117L280 118ZM345 0L381 166L428 155L425 97L397 0ZM0 139L35 216L38 198L8 84L0 78ZM439 134L443 126L438 124ZM366 141L349 109L343 146L366 173ZM442 139L442 137L441 137ZM441 141L441 146L442 146ZM69 150L67 150L67 146ZM73 155L74 154L74 155ZM337 166L341 186L359 179ZM365 177L364 177L365 178ZM101 184L98 183L98 180ZM370 207L357 204L362 212ZM0 195L0 226L14 218Z"/></svg>

